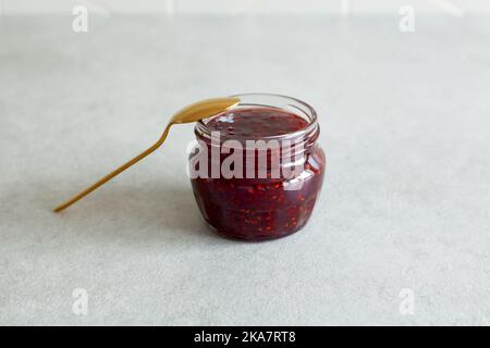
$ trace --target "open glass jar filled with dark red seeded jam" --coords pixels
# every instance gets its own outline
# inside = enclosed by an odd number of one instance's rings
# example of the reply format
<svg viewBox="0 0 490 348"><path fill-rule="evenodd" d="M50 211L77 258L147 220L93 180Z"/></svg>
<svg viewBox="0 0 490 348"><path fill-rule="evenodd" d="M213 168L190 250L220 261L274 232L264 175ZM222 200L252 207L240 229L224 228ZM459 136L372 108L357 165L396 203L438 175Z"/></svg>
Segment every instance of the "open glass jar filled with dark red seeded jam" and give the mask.
<svg viewBox="0 0 490 348"><path fill-rule="evenodd" d="M197 204L228 237L290 235L308 222L323 182L317 114L285 96L236 97L238 105L196 124L189 172Z"/></svg>

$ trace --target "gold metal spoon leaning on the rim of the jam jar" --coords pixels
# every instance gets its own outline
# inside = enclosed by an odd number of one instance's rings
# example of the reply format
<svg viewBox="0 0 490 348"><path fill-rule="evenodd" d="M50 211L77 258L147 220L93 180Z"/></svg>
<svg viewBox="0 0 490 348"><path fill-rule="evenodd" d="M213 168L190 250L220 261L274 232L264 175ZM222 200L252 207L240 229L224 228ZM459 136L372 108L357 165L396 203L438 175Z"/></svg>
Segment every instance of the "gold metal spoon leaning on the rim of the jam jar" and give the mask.
<svg viewBox="0 0 490 348"><path fill-rule="evenodd" d="M216 115L217 113L220 113L220 112L222 112L222 111L224 111L224 110L226 110L226 109L229 109L229 108L231 108L233 105L236 105L238 102L240 102L240 98L235 98L235 97L212 98L212 99L201 100L201 101L198 101L196 103L193 103L191 105L185 107L184 109L182 109L181 111L179 111L177 113L175 113L172 116L172 119L170 120L170 122L167 125L166 129L163 130L163 134L161 135L160 139L158 139L158 141L155 142L154 146L151 146L147 150L143 151L142 153L136 156L131 161L124 163L123 165L118 167L112 173L106 175L105 177L102 177L101 179L99 179L94 185L91 185L90 187L86 188L85 190L83 190L82 192L79 192L78 195L73 197L72 199L68 200L66 202L64 202L64 203L62 203L60 206L58 206L57 208L54 208L53 211L54 212L60 212L63 209L70 207L71 204L73 204L77 200L79 200L79 199L84 198L85 196L87 196L88 194L90 194L96 188L98 188L98 187L102 186L103 184L106 184L107 182L109 182L115 175L120 174L121 172L125 171L126 169L128 169L130 166L132 166L133 164L138 162L139 160L144 159L145 157L147 157L148 154L154 152L156 149L158 149L163 144L163 141L167 138L167 135L169 134L170 127L172 125L174 125L174 124L182 124L182 123L197 122L199 120L204 120L204 119L210 117L210 116Z"/></svg>

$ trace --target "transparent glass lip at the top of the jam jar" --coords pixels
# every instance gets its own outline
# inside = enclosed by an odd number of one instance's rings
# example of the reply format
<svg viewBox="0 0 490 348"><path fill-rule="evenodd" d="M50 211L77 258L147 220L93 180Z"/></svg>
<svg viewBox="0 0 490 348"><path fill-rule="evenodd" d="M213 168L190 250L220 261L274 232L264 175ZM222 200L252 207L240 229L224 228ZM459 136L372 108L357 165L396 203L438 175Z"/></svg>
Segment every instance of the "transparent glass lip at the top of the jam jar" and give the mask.
<svg viewBox="0 0 490 348"><path fill-rule="evenodd" d="M272 140L272 139L301 138L301 137L307 136L308 134L317 133L317 129L318 129L317 112L311 105L309 105L308 103L306 103L303 100L299 100L297 98L290 97L290 96L278 95L278 94L267 94L267 92L247 92L247 94L233 95L230 97L240 98L241 101L238 102L238 104L236 104L230 109L226 109L223 112L229 112L233 109L240 109L243 107L254 107L255 105L255 107L269 107L269 108L285 110L285 111L287 111L290 113L294 113L295 115L301 116L303 119L305 119L305 116L306 116L305 120L307 121L307 124L305 126L303 126L302 128L294 130L292 133L282 134L282 135L261 136L260 139ZM258 101L254 102L253 101L254 98L257 98L257 99L270 98L270 99L285 101L286 102L285 107L289 107L290 109L285 109L284 107L277 107L277 105L273 105L273 103L265 104L265 103L259 103ZM252 99L252 101L247 102L247 99ZM301 107L303 107L303 109L305 109L305 110L303 110ZM211 117L215 117L216 115L219 115L223 112L217 113L210 117L198 121L196 124L195 130L199 132L201 135L210 136L211 130L207 127L205 121L207 121Z"/></svg>

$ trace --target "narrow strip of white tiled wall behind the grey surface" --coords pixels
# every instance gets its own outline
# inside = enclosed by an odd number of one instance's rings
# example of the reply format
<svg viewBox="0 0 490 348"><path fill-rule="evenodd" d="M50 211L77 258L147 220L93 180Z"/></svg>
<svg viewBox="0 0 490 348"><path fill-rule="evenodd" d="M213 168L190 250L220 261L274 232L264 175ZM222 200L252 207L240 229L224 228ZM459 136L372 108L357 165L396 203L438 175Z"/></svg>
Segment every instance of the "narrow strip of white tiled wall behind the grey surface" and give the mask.
<svg viewBox="0 0 490 348"><path fill-rule="evenodd" d="M289 14L364 15L413 5L421 13L490 14L490 0L0 0L0 14L70 14L75 4L100 15Z"/></svg>

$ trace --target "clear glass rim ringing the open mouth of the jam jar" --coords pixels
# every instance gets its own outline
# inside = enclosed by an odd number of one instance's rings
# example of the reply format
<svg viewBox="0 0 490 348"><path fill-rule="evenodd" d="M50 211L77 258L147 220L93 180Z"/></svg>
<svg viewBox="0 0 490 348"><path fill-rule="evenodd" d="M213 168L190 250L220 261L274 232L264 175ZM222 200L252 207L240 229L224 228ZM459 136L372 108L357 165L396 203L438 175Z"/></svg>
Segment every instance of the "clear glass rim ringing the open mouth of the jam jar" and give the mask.
<svg viewBox="0 0 490 348"><path fill-rule="evenodd" d="M196 127L195 127L196 134L199 134L204 137L210 137L211 129L207 126L207 122L209 120L211 120L212 117L216 117L217 115L224 114L224 113L228 113L233 110L247 109L247 108L252 109L254 107L272 108L272 109L286 111L289 113L293 113L293 114L304 119L307 122L303 127L301 127L294 132L287 133L287 134L260 136L260 139L262 139L262 140L297 139L297 138L307 137L308 135L315 135L316 133L318 133L317 112L315 111L315 109L313 107L310 107L308 103L306 103L299 99L289 97L289 96L283 96L283 95L259 94L259 92L233 95L230 97L236 97L236 98L240 98L241 100L236 105L233 105L223 112L215 114L208 119L198 121L196 124ZM250 137L250 139L253 139L253 138L254 137ZM234 137L234 139L236 139L236 137ZM238 139L244 139L244 138L238 137Z"/></svg>

